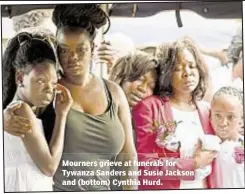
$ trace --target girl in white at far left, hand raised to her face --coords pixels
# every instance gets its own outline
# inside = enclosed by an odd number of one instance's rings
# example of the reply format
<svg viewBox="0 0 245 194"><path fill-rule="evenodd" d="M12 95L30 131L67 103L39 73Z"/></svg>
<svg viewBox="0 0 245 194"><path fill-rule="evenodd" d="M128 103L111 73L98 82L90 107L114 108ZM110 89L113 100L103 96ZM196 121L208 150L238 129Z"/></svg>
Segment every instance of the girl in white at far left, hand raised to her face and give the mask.
<svg viewBox="0 0 245 194"><path fill-rule="evenodd" d="M55 65L54 50L41 35L19 33L5 50L4 106L14 106L19 102L15 113L30 121L26 128L16 125L13 135L4 132L5 192L53 190L52 176L63 151L65 121L72 104L69 91L61 85L57 86ZM58 95L55 96L56 89ZM56 118L48 145L42 121L37 119L37 115L40 108L49 105L54 97ZM29 133L18 137L26 130Z"/></svg>

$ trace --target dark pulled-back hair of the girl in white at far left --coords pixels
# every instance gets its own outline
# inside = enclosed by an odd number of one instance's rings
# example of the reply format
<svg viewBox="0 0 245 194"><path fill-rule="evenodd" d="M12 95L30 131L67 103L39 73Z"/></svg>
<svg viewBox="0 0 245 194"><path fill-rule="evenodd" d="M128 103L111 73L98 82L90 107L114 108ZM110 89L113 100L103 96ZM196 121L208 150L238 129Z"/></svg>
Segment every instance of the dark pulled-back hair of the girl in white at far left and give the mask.
<svg viewBox="0 0 245 194"><path fill-rule="evenodd" d="M21 32L10 39L3 54L3 108L13 100L16 92L16 70L23 69L28 73L28 70L46 60L56 65L49 37Z"/></svg>

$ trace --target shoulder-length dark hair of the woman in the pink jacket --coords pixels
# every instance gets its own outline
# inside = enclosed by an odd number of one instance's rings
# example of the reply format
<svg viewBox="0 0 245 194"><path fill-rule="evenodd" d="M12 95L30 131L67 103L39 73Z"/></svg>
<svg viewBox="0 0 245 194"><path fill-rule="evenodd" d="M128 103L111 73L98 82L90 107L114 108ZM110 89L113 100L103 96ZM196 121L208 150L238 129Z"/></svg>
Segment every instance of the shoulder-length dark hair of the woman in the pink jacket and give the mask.
<svg viewBox="0 0 245 194"><path fill-rule="evenodd" d="M195 103L197 100L201 100L206 93L208 70L198 48L191 41L186 39L162 44L157 48L156 57L159 62L159 68L157 69L159 79L154 93L160 96L172 95L171 78L174 71L175 61L178 53L185 48L192 53L200 76L199 84L192 93L191 101Z"/></svg>

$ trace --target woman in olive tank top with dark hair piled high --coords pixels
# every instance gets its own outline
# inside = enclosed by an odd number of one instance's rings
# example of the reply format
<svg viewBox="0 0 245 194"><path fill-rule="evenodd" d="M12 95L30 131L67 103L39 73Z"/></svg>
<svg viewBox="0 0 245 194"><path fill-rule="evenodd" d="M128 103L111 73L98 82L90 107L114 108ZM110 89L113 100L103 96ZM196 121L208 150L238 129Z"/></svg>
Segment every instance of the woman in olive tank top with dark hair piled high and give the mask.
<svg viewBox="0 0 245 194"><path fill-rule="evenodd" d="M119 175L124 182L134 179L127 173L135 170L134 167L123 167L121 174L115 174L110 171L112 167L105 164L137 159L125 94L117 84L89 71L96 30L105 25L107 19L109 21L95 4L57 5L53 12L61 66L59 82L70 90L74 101L66 120L64 153L54 176L55 191L110 190L110 176ZM51 125L52 111L50 108L46 116L43 114ZM87 165L79 165L81 162ZM103 168L99 165L102 163ZM89 172L89 175L67 176L66 172ZM66 185L74 179L75 185ZM80 180L86 184L79 184ZM119 181L111 183L116 185ZM134 184L124 185L125 190L137 189Z"/></svg>

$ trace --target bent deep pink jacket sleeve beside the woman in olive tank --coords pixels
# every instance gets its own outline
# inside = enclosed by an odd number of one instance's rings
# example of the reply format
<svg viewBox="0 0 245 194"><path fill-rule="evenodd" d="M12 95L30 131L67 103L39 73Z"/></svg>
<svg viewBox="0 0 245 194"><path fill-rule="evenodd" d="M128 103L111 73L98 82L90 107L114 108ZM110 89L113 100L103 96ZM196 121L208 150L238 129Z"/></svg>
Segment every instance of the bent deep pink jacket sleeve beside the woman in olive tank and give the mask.
<svg viewBox="0 0 245 194"><path fill-rule="evenodd" d="M141 176L139 180L194 180L194 161L193 159L180 159L178 152L170 152L159 148L156 143L156 133L153 131L153 120L155 120L154 109L149 104L140 102L132 111L134 129L136 131L136 149L138 153L139 162L158 162L160 161L163 166L139 166ZM155 113L156 114L156 113ZM174 162L174 166L166 166L167 162ZM158 163L158 164L160 164ZM175 172L172 176L148 176L145 175L145 170L149 171L163 171ZM192 173L191 176L185 176L183 173ZM148 187L148 186L147 186ZM139 187L140 188L140 187ZM152 185L149 185L152 188ZM144 185L146 189L146 185Z"/></svg>

